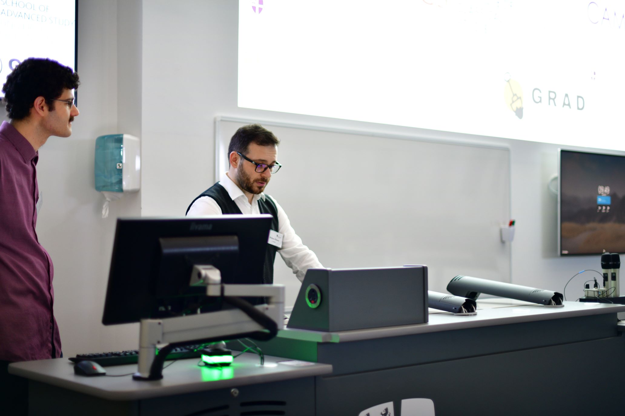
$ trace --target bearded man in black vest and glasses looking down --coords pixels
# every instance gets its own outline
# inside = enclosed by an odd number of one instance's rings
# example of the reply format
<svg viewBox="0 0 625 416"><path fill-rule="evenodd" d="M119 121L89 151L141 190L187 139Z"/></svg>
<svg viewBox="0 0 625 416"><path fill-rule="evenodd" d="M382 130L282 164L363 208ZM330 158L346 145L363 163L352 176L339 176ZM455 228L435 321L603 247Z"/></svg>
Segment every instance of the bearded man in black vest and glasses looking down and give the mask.
<svg viewBox="0 0 625 416"><path fill-rule="evenodd" d="M270 241L262 275L263 283L267 284L273 283L276 252L300 281L307 269L323 267L317 256L302 244L282 207L264 193L271 175L282 166L277 163L279 143L274 133L259 124L239 128L228 146L228 172L187 208L187 216L271 214Z"/></svg>

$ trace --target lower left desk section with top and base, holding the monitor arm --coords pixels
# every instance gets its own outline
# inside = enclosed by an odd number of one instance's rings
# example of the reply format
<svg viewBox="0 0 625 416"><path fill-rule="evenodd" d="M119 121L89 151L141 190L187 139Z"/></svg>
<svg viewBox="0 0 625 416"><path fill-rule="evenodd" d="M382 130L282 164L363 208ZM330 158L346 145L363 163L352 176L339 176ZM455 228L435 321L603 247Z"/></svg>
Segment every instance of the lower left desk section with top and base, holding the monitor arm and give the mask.
<svg viewBox="0 0 625 416"><path fill-rule="evenodd" d="M17 362L9 372L29 379L30 414L89 416L314 415L314 377L332 372L331 365L287 365L285 359L269 356L260 367L258 356L248 353L223 369L198 367L198 360L174 362L157 381L130 375L83 377L74 374L68 359ZM137 365L105 369L109 375L128 374Z"/></svg>

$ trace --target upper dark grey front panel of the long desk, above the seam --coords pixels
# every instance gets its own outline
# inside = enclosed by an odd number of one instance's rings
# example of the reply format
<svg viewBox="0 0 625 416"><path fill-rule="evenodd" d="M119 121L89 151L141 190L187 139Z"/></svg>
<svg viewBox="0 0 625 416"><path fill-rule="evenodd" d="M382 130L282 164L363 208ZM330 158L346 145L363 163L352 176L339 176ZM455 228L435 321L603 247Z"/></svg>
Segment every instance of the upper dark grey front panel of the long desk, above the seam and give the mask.
<svg viewBox="0 0 625 416"><path fill-rule="evenodd" d="M317 344L316 358L319 362L332 364L332 374L337 375L612 337L617 337L616 316L604 314L337 344L321 343Z"/></svg>

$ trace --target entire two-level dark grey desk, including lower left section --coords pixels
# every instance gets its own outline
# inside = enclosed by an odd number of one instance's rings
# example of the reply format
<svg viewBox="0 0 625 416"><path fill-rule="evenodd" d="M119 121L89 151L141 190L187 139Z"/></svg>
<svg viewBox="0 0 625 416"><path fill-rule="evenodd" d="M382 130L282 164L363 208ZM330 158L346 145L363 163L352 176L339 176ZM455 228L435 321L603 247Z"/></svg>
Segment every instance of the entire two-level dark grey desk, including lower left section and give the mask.
<svg viewBox="0 0 625 416"><path fill-rule="evenodd" d="M478 307L502 306L497 302L480 301ZM414 397L434 400L437 416L622 414L617 392L625 373L625 338L616 317L622 311L622 305L565 302L549 308L516 302L480 309L476 316L432 313L427 324L286 329L258 342L266 354L332 367L257 369L257 357L244 354L239 359L247 369L234 367L232 379L211 382L197 372L197 359L176 362L157 382L79 377L63 359L9 369L31 379L35 414L54 414L49 403L60 403L70 410L59 414L70 415L76 409L89 409L90 415L188 415L221 406L229 407L203 414L279 414L277 404L284 402L289 407L279 411L287 415L358 415L394 402L401 416L401 400ZM124 374L136 365L108 369ZM235 386L241 392L236 398L230 393Z"/></svg>

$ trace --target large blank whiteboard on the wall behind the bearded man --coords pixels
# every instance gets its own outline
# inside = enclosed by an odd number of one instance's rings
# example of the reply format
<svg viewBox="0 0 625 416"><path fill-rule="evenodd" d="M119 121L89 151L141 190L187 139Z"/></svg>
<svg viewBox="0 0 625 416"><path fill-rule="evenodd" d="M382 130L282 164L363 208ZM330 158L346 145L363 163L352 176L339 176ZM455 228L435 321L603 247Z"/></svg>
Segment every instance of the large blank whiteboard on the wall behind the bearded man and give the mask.
<svg viewBox="0 0 625 416"><path fill-rule="evenodd" d="M429 289L457 274L510 281L509 148L217 117L215 174L237 128L260 123L281 140L266 192L328 268L426 264ZM287 305L299 281L276 256Z"/></svg>

